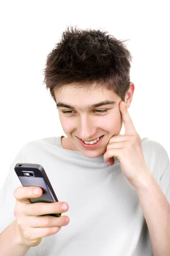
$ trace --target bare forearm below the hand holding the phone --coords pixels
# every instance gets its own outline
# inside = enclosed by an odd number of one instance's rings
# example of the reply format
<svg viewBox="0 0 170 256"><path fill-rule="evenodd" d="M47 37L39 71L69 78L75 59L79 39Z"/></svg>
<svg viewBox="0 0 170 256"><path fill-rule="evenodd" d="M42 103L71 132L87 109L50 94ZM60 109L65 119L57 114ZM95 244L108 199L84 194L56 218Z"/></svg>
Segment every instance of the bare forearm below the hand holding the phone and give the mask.
<svg viewBox="0 0 170 256"><path fill-rule="evenodd" d="M17 241L16 221L12 222L2 233L0 233L0 256L25 256L30 249Z"/></svg>

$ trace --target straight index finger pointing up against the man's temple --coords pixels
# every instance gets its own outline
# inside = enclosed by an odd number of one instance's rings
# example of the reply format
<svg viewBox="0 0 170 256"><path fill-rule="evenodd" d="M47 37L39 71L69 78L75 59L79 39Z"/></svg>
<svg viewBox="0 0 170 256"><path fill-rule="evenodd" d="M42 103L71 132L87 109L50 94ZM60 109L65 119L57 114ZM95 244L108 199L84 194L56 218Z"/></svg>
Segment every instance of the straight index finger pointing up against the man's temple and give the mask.
<svg viewBox="0 0 170 256"><path fill-rule="evenodd" d="M130 117L129 111L126 106L122 106L122 102L119 104L119 109L122 113L122 120L124 123L125 134L133 134L136 133L135 126L133 125L133 121Z"/></svg>

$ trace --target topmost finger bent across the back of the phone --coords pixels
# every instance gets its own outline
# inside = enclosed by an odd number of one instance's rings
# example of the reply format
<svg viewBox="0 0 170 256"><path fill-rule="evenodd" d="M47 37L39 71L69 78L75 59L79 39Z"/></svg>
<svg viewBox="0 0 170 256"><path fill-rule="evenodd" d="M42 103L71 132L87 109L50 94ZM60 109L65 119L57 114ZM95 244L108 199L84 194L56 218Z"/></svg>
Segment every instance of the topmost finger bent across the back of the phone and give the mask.
<svg viewBox="0 0 170 256"><path fill-rule="evenodd" d="M35 189L38 189L37 195L34 194ZM42 189L37 186L20 186L14 190L14 197L20 202L30 202L28 198L38 198L42 195Z"/></svg>

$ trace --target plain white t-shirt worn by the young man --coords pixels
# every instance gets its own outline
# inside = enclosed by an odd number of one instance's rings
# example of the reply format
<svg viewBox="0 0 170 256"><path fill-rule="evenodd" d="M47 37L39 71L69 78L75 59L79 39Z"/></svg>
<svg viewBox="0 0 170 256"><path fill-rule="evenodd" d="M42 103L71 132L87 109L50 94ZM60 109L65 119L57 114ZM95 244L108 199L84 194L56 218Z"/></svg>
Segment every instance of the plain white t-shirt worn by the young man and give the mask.
<svg viewBox="0 0 170 256"><path fill-rule="evenodd" d="M170 162L164 147L143 138L142 151L170 202ZM14 189L22 186L14 166L42 165L59 201L69 205L70 223L42 238L26 256L152 256L150 236L136 189L123 175L119 160L113 166L103 155L84 156L62 148L61 136L32 141L23 146L10 166L0 191L0 233L13 222ZM10 241L9 241L10 242Z"/></svg>

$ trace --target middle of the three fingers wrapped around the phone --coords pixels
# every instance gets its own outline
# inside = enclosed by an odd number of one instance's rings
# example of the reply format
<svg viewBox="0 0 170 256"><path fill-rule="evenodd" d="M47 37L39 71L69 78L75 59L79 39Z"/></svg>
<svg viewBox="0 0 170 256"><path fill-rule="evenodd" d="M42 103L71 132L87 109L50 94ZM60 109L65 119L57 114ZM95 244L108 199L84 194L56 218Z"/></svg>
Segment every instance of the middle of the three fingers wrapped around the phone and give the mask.
<svg viewBox="0 0 170 256"><path fill-rule="evenodd" d="M62 204L67 206L67 209L62 209ZM67 212L69 206L65 202L54 202L54 203L34 203L31 205L26 205L24 209L24 213L26 215L46 215L52 213L62 213Z"/></svg>

